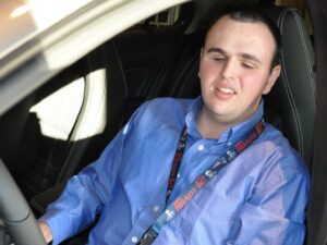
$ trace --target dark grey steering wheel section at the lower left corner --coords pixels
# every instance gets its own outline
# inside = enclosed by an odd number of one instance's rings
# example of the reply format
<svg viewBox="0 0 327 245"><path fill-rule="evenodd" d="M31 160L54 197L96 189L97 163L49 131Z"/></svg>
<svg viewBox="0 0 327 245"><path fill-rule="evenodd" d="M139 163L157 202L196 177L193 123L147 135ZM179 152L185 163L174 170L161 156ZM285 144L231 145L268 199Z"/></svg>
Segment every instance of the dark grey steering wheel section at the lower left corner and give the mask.
<svg viewBox="0 0 327 245"><path fill-rule="evenodd" d="M46 245L35 217L0 159L0 245ZM4 228L3 228L4 225ZM4 235L4 229L12 242Z"/></svg>

